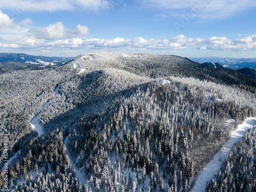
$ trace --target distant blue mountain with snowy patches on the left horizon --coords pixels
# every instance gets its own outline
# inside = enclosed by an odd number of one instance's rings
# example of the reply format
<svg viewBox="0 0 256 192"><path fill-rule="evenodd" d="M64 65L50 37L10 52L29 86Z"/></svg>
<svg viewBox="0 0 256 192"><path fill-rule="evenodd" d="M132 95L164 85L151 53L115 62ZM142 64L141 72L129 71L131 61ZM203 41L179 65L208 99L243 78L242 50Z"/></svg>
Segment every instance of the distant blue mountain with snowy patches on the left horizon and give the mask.
<svg viewBox="0 0 256 192"><path fill-rule="evenodd" d="M33 56L23 53L0 53L0 62L18 61L39 66L63 65L71 59L68 57Z"/></svg>

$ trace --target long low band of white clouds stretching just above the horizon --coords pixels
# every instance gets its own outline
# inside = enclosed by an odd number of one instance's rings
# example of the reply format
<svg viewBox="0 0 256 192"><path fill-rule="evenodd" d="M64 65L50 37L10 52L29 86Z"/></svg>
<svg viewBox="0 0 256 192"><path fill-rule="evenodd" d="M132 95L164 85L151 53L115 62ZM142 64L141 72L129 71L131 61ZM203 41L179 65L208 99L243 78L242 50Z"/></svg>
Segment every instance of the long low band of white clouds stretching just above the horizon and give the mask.
<svg viewBox="0 0 256 192"><path fill-rule="evenodd" d="M230 40L226 37L209 38L188 38L185 35L178 35L171 39L144 39L136 37L133 39L114 38L98 39L90 38L82 40L81 38L45 40L30 38L25 41L16 42L18 46L27 47L45 47L53 49L106 49L108 45L112 49L135 49L135 50L224 50L224 51L242 51L256 50L256 35L244 38Z"/></svg>

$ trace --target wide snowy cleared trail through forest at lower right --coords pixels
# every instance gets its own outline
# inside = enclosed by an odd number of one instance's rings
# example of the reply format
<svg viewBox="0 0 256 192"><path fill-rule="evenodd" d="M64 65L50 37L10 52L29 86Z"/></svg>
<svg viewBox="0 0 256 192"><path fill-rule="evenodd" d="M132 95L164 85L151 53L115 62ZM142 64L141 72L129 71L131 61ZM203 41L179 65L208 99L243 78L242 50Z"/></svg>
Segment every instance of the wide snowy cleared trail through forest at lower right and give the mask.
<svg viewBox="0 0 256 192"><path fill-rule="evenodd" d="M215 173L218 174L222 163L225 161L226 156L229 154L234 143L243 139L243 135L247 130L253 128L256 123L256 117L247 118L242 124L239 124L236 130L233 130L230 134L230 139L223 145L221 150L212 157L212 159L204 166L200 171L195 186L192 192L205 191L207 181L211 181L214 178Z"/></svg>

